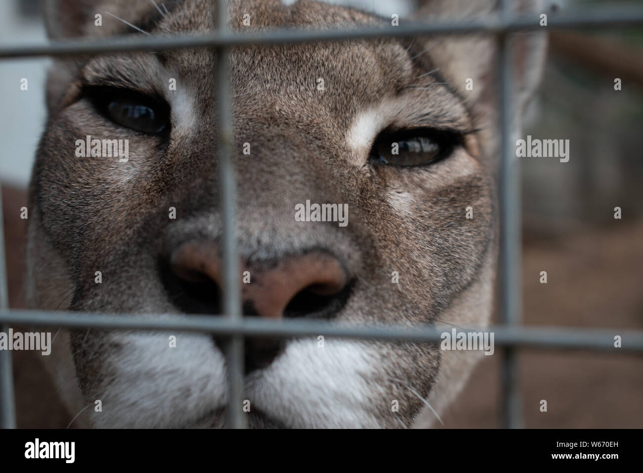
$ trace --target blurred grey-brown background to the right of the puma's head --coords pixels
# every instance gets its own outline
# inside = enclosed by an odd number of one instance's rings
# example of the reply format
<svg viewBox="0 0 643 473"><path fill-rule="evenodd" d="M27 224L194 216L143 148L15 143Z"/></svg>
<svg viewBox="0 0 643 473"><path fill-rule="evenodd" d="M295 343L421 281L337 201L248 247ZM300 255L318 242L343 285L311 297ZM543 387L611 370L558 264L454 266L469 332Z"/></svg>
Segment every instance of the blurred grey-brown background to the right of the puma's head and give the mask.
<svg viewBox="0 0 643 473"><path fill-rule="evenodd" d="M561 13L605 6L643 2L550 2ZM521 158L523 323L642 329L643 28L550 32L527 134L570 140L570 160ZM643 356L518 353L525 427L643 427ZM444 427L501 426L500 357L483 358Z"/></svg>

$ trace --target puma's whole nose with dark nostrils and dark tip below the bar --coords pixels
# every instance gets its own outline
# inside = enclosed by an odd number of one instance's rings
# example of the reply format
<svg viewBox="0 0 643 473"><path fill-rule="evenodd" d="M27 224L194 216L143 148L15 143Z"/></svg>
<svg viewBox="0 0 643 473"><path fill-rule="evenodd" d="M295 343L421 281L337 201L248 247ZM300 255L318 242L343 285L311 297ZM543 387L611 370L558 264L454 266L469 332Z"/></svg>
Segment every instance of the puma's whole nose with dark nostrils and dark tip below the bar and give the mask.
<svg viewBox="0 0 643 473"><path fill-rule="evenodd" d="M212 243L187 243L170 258L172 273L181 281L177 305L192 313L221 310L222 263ZM348 299L350 287L340 261L319 251L289 255L270 262L241 264L244 315L332 317ZM217 344L219 340L215 337ZM282 342L246 338L246 373L268 366Z"/></svg>

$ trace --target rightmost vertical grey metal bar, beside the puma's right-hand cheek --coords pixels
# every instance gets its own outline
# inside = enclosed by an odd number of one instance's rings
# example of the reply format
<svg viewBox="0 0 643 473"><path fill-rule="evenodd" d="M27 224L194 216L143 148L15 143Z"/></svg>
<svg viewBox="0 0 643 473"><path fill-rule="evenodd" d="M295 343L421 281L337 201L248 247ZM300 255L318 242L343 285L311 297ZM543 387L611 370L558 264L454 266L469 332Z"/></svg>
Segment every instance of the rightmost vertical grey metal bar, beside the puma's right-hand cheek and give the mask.
<svg viewBox="0 0 643 473"><path fill-rule="evenodd" d="M503 19L509 0L500 3ZM500 163L500 322L508 326L521 320L521 199L520 163L512 147L513 131L513 64L509 35L498 35L498 67L500 68L500 130L502 136ZM502 358L502 425L505 429L523 427L518 360L516 348L507 347Z"/></svg>

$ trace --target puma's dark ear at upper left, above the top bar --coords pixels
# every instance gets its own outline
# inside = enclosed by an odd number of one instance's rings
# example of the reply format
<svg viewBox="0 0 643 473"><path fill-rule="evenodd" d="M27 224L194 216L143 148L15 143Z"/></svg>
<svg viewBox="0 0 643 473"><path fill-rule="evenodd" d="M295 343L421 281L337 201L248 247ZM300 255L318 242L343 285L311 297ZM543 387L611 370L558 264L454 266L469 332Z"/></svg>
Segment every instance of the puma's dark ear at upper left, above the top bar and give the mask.
<svg viewBox="0 0 643 473"><path fill-rule="evenodd" d="M44 18L50 39L84 36L94 24L99 0L47 0Z"/></svg>

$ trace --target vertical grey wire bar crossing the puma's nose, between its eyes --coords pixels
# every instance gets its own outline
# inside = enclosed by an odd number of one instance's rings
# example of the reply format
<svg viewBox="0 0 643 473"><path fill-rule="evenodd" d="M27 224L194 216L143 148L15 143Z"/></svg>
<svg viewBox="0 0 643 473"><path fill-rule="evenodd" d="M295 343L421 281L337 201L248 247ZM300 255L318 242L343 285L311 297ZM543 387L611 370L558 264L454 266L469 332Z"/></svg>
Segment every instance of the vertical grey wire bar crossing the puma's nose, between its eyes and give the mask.
<svg viewBox="0 0 643 473"><path fill-rule="evenodd" d="M228 1L217 2L219 32L228 28ZM241 315L241 295L239 287L239 256L235 236L235 213L237 184L232 164L232 104L230 98L230 77L228 71L229 48L217 50L217 70L215 83L215 102L217 107L217 130L219 133L219 196L221 199L221 219L223 223L223 310L232 320ZM244 339L233 335L226 343L228 363L228 416L230 427L243 429L246 418L243 412L244 387Z"/></svg>

